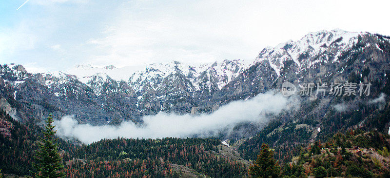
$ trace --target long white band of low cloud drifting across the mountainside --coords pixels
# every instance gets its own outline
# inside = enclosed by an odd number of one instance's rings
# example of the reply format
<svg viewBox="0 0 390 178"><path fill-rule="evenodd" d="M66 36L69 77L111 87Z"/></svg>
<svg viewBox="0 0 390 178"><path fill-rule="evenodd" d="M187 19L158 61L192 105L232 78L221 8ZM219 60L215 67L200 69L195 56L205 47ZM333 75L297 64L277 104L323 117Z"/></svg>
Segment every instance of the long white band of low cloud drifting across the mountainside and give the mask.
<svg viewBox="0 0 390 178"><path fill-rule="evenodd" d="M119 126L78 124L73 116L65 116L54 124L62 138L77 138L89 144L103 138L165 138L165 137L210 137L216 136L221 129L233 128L243 121L264 122L266 115L278 114L292 107L289 99L271 92L259 94L247 101L233 101L221 106L211 114L176 115L158 113L144 116L142 125L126 121ZM267 114L264 114L267 113Z"/></svg>

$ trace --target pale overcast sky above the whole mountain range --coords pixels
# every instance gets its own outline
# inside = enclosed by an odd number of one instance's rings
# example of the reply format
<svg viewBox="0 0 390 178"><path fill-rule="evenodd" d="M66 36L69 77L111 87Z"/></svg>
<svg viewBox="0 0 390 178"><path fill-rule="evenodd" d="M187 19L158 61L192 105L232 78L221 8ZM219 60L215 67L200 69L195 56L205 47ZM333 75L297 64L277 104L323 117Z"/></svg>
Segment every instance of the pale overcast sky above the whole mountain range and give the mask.
<svg viewBox="0 0 390 178"><path fill-rule="evenodd" d="M25 1L0 2L0 63L31 72L254 59L323 29L390 35L386 0Z"/></svg>

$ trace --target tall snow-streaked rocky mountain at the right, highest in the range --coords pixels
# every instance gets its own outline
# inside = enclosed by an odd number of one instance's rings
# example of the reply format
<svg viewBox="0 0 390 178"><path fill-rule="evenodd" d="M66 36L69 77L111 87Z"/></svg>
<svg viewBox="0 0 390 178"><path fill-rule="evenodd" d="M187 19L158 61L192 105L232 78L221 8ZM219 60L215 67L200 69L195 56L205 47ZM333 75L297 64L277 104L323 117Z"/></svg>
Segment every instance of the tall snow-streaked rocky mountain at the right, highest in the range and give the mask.
<svg viewBox="0 0 390 178"><path fill-rule="evenodd" d="M254 64L214 93L214 102L246 99L283 81L295 85L308 82L346 82L384 79L389 72L389 38L341 30L310 33L298 41L264 48ZM357 81L356 81L357 82Z"/></svg>

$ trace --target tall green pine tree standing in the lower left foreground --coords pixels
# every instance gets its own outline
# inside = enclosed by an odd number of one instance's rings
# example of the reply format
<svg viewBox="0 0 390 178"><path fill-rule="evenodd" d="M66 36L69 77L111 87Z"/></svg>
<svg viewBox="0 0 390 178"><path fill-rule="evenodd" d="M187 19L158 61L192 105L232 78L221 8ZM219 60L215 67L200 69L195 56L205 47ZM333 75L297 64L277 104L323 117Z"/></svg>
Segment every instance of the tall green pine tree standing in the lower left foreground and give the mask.
<svg viewBox="0 0 390 178"><path fill-rule="evenodd" d="M37 178L62 178L65 174L62 172L63 164L58 153L58 143L54 135L52 115L46 120L44 137L39 143L39 150L34 157L36 162L33 164L36 172L34 176Z"/></svg>

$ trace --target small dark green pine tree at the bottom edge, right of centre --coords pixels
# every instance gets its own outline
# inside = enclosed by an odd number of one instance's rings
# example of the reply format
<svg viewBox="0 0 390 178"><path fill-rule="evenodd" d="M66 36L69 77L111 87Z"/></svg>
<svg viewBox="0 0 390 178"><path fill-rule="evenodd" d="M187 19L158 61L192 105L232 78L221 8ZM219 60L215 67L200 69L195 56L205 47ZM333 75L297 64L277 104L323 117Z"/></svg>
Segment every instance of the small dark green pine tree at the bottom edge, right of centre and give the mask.
<svg viewBox="0 0 390 178"><path fill-rule="evenodd" d="M257 159L253 165L250 165L248 173L256 178L277 178L280 173L280 166L273 158L273 151L268 144L263 143Z"/></svg>

